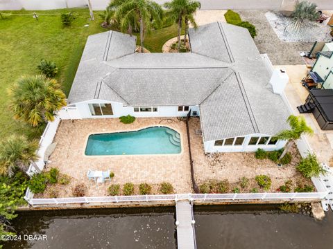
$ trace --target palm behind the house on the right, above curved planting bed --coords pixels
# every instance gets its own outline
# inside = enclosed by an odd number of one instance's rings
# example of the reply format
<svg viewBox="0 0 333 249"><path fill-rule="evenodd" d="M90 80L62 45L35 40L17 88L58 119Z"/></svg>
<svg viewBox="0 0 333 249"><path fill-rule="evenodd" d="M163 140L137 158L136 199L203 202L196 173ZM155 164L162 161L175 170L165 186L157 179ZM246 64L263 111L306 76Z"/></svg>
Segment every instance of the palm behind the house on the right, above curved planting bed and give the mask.
<svg viewBox="0 0 333 249"><path fill-rule="evenodd" d="M196 21L194 20L194 13L200 8L199 1L191 0L173 0L164 3L164 7L168 9L167 15L169 18L176 21L178 25L178 52L180 50L180 33L182 31L182 22L185 21L185 37L184 44L186 44L187 30L189 22L196 28Z"/></svg>

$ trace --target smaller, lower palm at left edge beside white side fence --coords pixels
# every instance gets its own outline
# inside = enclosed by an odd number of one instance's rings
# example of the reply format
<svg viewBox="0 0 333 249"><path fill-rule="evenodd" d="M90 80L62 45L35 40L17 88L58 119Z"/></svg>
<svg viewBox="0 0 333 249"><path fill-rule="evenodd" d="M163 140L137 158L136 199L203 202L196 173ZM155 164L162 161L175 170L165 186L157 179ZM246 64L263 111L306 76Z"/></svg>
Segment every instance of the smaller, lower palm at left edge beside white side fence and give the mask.
<svg viewBox="0 0 333 249"><path fill-rule="evenodd" d="M0 174L12 176L15 169L26 171L37 160L38 141L28 141L25 136L12 135L0 143Z"/></svg>

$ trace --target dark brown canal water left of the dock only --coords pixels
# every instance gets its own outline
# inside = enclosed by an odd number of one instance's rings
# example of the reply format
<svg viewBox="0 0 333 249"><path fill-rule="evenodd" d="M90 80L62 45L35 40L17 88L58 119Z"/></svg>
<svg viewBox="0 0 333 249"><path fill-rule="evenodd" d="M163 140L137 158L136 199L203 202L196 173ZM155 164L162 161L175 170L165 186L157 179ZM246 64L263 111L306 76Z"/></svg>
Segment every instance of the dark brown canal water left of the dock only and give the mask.
<svg viewBox="0 0 333 249"><path fill-rule="evenodd" d="M174 208L22 212L17 234L47 241L12 241L4 248L176 248Z"/></svg>

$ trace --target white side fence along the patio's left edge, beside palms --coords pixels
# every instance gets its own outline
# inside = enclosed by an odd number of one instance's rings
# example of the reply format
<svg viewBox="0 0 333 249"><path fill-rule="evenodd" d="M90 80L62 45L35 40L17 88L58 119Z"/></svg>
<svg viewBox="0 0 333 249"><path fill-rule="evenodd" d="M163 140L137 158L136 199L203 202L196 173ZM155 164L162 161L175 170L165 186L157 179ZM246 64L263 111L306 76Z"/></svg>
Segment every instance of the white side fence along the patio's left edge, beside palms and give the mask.
<svg viewBox="0 0 333 249"><path fill-rule="evenodd" d="M53 122L48 122L46 124L46 127L44 129L44 132L42 136L40 137L40 148L38 149L37 155L38 160L35 161L35 165L42 171L44 169L44 154L46 151L46 148L51 145L53 142L54 136L56 136L56 132L58 129L58 125L60 123L60 118L56 117ZM29 176L32 176L36 173L35 167L31 164L28 168L28 171L26 172Z"/></svg>

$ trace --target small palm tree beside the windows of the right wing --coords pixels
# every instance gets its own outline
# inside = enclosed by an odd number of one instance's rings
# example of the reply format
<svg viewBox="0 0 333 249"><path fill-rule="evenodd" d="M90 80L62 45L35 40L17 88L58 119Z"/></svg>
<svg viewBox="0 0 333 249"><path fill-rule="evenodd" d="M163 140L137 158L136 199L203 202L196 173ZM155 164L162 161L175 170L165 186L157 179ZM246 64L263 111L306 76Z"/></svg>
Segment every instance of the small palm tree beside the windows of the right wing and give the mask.
<svg viewBox="0 0 333 249"><path fill-rule="evenodd" d="M289 140L287 143L287 146L284 147L284 151L282 152L279 160L281 160L285 154L289 151L291 148L291 145L293 145L293 142L295 140L298 140L300 136L303 133L306 134L312 134L314 131L311 129L311 127L307 126L307 122L305 122L305 118L302 116L289 116L287 119L287 122L289 123L291 129L290 130L284 130L278 133L275 136L275 140Z"/></svg>

